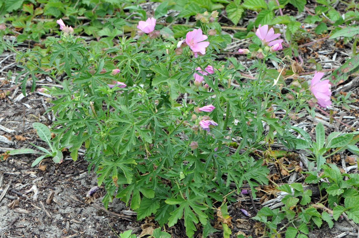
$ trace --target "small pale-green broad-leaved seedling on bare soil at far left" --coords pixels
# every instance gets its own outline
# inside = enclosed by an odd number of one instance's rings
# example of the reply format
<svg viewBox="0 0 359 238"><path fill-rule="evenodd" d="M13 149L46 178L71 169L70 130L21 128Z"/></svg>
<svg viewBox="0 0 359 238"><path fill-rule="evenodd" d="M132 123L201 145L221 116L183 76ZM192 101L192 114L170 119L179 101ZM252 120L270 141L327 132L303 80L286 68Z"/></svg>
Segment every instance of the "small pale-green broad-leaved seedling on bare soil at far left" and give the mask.
<svg viewBox="0 0 359 238"><path fill-rule="evenodd" d="M32 144L31 142L29 142L32 146L36 147L37 149L39 149L42 152L38 152L35 151L34 149L14 149L12 151L9 151L9 155L15 155L15 154L42 154L40 157L38 157L36 160L34 160L34 162L32 162L31 166L35 166L37 165L41 160L43 160L46 157L52 157L52 161L55 163L61 163L63 160L63 155L61 150L57 149L57 144L56 143L52 143L51 141L51 132L50 130L47 128L46 125L42 124L42 123L38 123L38 122L34 122L32 124L33 128L36 129L36 132L38 134L38 136L45 141L48 146L50 147L50 151L48 151L47 149L41 147L41 146L36 146L34 144Z"/></svg>

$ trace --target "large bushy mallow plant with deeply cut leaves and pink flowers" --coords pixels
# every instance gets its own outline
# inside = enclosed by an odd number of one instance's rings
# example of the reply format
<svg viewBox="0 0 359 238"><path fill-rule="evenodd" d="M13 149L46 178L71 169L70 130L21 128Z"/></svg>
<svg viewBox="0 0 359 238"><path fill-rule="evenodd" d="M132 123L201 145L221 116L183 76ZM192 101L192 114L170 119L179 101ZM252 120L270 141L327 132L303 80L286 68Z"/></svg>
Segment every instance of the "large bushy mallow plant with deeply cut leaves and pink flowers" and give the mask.
<svg viewBox="0 0 359 238"><path fill-rule="evenodd" d="M160 226L172 226L184 219L188 237L199 227L203 237L213 231L218 209L229 217L227 205L236 201L231 183L237 190L247 183L254 197L255 187L267 184L269 170L255 149L274 141L294 148L289 130L295 113L308 100L328 105L317 81L315 97L299 85L287 87L291 96L282 95L280 73L266 66L269 59L281 63L276 52L283 40L274 28L260 26L255 46L239 50L252 57L250 70L258 72L243 80L215 55L218 13L203 15L211 21L176 42L162 40L156 19L140 21L137 40L121 37L104 54L91 53L59 20L63 33L53 40L47 65L54 80L65 73L57 80L62 87L47 89L56 97L49 109L56 115L52 141L70 146L74 160L86 148L88 168L106 189L104 206L118 197L139 220L153 215ZM276 111L285 114L279 118Z"/></svg>

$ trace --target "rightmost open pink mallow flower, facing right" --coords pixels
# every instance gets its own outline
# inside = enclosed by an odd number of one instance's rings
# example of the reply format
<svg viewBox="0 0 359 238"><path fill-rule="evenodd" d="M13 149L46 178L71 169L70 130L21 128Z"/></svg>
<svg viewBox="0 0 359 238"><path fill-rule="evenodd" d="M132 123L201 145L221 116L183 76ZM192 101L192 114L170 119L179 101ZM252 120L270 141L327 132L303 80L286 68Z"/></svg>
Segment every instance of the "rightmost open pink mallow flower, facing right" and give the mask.
<svg viewBox="0 0 359 238"><path fill-rule="evenodd" d="M332 95L332 91L330 90L329 80L323 80L320 82L321 78L323 77L324 73L322 72L315 72L314 77L311 80L311 86L309 90L314 94L316 97L317 104L323 108L331 105L332 102L330 101L330 96Z"/></svg>

